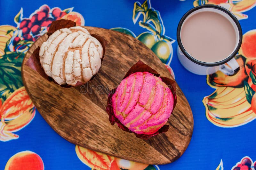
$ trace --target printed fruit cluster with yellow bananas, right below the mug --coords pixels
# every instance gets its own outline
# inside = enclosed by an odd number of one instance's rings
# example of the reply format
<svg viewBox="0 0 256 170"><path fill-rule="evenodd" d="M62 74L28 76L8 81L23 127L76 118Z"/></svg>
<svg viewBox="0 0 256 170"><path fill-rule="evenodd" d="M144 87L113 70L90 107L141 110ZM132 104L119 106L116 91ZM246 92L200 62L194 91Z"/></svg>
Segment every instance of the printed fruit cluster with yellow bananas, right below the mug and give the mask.
<svg viewBox="0 0 256 170"><path fill-rule="evenodd" d="M218 71L207 75L207 83L216 90L203 99L206 117L220 127L237 127L256 118L256 30L243 35L236 55L240 71L227 76Z"/></svg>

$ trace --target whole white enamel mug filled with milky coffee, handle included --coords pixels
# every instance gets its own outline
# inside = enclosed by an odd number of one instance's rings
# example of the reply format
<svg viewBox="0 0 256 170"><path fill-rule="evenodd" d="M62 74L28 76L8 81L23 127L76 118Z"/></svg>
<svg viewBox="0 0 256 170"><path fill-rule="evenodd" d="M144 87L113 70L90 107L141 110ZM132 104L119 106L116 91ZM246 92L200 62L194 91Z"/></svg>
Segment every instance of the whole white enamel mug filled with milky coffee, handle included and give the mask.
<svg viewBox="0 0 256 170"><path fill-rule="evenodd" d="M234 57L242 43L242 30L225 8L201 5L189 10L180 20L177 40L180 62L192 73L205 75L220 70L234 75L239 71Z"/></svg>

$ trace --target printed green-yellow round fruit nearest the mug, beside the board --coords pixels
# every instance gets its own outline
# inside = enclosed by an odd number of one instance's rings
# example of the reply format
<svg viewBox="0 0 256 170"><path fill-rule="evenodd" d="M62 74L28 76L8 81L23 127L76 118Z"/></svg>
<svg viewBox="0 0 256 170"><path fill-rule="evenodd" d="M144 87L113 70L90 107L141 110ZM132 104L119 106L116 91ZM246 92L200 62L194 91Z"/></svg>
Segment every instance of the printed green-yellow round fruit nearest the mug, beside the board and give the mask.
<svg viewBox="0 0 256 170"><path fill-rule="evenodd" d="M151 50L163 63L167 62L171 51L165 40L158 41L154 46L152 46Z"/></svg>

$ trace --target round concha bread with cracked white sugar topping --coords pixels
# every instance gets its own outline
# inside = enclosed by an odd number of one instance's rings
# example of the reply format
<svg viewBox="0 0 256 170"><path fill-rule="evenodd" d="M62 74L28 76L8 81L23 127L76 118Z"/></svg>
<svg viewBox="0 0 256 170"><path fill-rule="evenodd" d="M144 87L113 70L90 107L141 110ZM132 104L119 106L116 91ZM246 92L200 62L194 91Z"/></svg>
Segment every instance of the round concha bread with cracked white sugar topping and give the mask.
<svg viewBox="0 0 256 170"><path fill-rule="evenodd" d="M103 48L100 42L80 26L54 32L39 52L44 72L58 84L87 82L101 66Z"/></svg>

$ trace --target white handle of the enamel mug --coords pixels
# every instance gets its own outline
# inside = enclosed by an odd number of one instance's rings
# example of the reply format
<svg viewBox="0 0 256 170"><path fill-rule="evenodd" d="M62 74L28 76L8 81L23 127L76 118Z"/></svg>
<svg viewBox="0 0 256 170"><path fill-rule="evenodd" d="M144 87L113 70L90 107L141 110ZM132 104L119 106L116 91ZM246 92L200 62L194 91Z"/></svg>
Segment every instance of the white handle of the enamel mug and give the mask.
<svg viewBox="0 0 256 170"><path fill-rule="evenodd" d="M227 64L231 67L228 67L227 65L223 64L220 66L220 71L228 76L236 75L236 73L240 70L240 66L236 62L236 59L233 58L227 62Z"/></svg>

